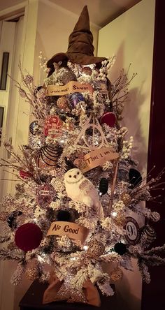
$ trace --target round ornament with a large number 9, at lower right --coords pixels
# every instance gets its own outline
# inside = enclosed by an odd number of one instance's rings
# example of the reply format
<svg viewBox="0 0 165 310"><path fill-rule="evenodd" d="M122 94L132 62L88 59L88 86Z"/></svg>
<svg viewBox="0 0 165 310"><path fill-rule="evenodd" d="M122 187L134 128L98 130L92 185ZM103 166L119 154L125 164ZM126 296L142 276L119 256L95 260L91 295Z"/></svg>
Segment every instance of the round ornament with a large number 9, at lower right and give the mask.
<svg viewBox="0 0 165 310"><path fill-rule="evenodd" d="M129 244L135 245L141 237L140 227L138 226L138 222L131 216L126 218L126 224L124 226L126 230L126 239Z"/></svg>

